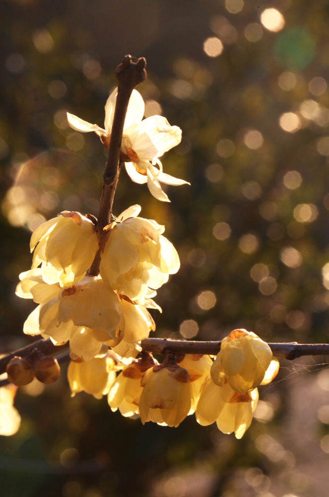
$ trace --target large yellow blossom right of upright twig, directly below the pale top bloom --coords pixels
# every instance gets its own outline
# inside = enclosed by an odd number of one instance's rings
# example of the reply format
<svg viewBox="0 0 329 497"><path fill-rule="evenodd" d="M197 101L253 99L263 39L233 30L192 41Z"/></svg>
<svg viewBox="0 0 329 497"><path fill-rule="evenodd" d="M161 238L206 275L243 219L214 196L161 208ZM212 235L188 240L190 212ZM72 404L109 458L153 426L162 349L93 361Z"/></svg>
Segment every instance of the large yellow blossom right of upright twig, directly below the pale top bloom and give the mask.
<svg viewBox="0 0 329 497"><path fill-rule="evenodd" d="M162 236L164 227L136 217L139 212L139 205L131 206L111 223L100 265L104 281L131 300L144 298L148 287L159 288L180 266L176 249Z"/></svg>

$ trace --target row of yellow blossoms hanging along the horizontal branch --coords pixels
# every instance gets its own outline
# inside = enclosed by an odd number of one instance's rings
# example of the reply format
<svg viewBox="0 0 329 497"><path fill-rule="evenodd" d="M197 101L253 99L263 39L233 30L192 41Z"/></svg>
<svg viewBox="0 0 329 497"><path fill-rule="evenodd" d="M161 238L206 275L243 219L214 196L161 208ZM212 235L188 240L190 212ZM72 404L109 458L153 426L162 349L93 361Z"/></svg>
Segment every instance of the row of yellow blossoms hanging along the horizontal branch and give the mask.
<svg viewBox="0 0 329 497"><path fill-rule="evenodd" d="M122 371L115 378L113 371L118 369ZM95 397L108 394L112 411L139 415L143 424L178 426L195 413L201 425L216 421L223 433L241 438L257 406L257 386L272 381L278 370L279 362L265 342L252 332L234 330L222 340L214 362L202 354L168 353L158 364L142 352L139 359L123 365L111 355L89 363L71 362L68 378L72 395L81 390Z"/></svg>

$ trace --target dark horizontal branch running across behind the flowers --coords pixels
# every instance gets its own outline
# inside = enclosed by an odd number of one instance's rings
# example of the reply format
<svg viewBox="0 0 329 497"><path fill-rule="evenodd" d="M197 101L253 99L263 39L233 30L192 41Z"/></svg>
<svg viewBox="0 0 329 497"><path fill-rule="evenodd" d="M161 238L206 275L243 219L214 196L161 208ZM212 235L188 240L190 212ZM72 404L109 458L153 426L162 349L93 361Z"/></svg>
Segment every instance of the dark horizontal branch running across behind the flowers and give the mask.
<svg viewBox="0 0 329 497"><path fill-rule="evenodd" d="M145 338L142 340L142 350L154 354L166 355L166 351L175 354L208 354L217 355L220 350L221 341L193 341L193 340L171 340L167 338ZM269 343L276 357L284 357L293 361L302 355L329 355L329 343ZM40 350L45 355L55 355L57 352L68 349L69 342L64 345L54 345L50 338L42 338L31 345L20 348L5 355L0 359L0 374L4 373L10 359L14 356L26 357L34 349ZM69 359L69 354L61 355L62 362Z"/></svg>

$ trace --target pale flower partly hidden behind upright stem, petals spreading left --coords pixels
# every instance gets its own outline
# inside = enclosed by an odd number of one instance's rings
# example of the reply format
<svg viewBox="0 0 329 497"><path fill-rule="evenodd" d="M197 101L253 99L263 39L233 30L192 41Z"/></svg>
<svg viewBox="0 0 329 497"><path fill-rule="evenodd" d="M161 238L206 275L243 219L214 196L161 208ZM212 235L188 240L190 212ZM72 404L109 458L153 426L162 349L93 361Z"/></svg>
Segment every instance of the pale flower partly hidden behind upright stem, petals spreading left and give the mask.
<svg viewBox="0 0 329 497"><path fill-rule="evenodd" d="M90 131L95 131L95 133L101 138L104 145L109 148L110 135L112 131L112 124L114 118L115 102L116 102L117 88L115 88L110 94L106 105L105 105L105 121L104 127L100 128L97 124L91 124L87 121L83 121L80 117L74 116L73 114L67 113L67 120L71 128L76 131L81 131L82 133L88 133ZM137 90L132 90L129 104L127 108L127 113L125 115L123 130L130 127L132 124L138 124L142 120L144 115L144 100L141 94Z"/></svg>

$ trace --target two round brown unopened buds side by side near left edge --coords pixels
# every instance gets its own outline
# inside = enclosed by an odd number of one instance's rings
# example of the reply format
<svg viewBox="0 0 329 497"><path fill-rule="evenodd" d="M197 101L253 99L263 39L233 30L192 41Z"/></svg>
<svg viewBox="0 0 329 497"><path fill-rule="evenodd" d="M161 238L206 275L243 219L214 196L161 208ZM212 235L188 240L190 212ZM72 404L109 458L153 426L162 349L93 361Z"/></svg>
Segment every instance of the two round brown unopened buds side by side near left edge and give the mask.
<svg viewBox="0 0 329 497"><path fill-rule="evenodd" d="M6 368L8 380L17 387L28 385L34 378L49 385L58 380L60 372L57 359L37 349L26 357L13 357Z"/></svg>

